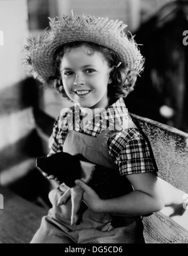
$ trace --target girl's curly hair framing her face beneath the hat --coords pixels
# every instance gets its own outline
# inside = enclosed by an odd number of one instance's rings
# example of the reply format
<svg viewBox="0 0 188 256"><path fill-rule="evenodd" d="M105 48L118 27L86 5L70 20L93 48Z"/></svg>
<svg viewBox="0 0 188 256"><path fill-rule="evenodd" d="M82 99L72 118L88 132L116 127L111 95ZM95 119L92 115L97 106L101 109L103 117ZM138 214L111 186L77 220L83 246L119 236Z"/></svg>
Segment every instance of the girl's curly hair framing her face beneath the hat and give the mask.
<svg viewBox="0 0 188 256"><path fill-rule="evenodd" d="M127 97L127 95L134 89L135 82L137 81L137 72L135 70L128 69L127 67L123 66L123 64L118 67L118 63L120 62L118 58L118 53L113 52L109 48L102 47L101 45L97 45L95 43L73 42L63 45L63 47L61 48L58 48L55 54L54 62L56 72L53 77L49 77L48 84L54 86L55 89L60 92L63 97L67 97L68 99L70 99L66 95L61 79L61 60L65 53L70 51L72 48L77 48L81 45L85 45L86 47L91 48L91 50L93 50L94 52L102 53L102 56L105 58L105 60L107 60L109 67L114 67L110 72L110 78L112 79L112 83L108 84L108 97L110 97L110 99Z"/></svg>

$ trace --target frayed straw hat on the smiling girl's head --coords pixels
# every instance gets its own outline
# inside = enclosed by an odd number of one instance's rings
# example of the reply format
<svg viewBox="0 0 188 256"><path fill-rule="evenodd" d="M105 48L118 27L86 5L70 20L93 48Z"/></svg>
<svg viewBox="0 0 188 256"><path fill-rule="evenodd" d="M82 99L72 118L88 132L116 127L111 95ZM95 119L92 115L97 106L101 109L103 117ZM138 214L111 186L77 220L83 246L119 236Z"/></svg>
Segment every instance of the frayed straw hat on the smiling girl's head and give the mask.
<svg viewBox="0 0 188 256"><path fill-rule="evenodd" d="M71 42L91 42L110 48L119 56L123 67L140 74L144 58L133 38L123 31L127 25L122 21L90 15L49 18L50 28L44 30L39 38L28 39L26 66L28 72L39 81L47 83L55 75L55 55L58 48Z"/></svg>

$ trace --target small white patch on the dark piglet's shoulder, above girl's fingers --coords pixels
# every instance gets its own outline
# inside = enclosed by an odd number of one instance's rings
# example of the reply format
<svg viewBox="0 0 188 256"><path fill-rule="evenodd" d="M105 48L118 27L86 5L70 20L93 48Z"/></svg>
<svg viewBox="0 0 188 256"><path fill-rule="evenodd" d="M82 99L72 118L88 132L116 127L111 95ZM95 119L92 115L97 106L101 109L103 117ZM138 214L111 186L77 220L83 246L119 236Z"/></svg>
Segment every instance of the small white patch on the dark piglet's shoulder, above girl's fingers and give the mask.
<svg viewBox="0 0 188 256"><path fill-rule="evenodd" d="M93 177L93 172L95 170L95 164L88 163L85 161L80 161L81 165L81 180L84 181L85 183L88 183L92 177Z"/></svg>

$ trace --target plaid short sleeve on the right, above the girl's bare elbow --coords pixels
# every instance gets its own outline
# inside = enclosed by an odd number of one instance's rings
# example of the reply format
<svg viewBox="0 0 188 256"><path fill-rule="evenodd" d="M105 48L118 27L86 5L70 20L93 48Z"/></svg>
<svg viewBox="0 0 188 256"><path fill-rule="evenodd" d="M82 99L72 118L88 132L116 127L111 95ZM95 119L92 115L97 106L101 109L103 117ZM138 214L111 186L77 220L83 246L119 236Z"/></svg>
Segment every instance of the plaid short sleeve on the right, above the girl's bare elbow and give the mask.
<svg viewBox="0 0 188 256"><path fill-rule="evenodd" d="M135 128L120 131L109 138L108 150L121 175L158 170L149 142Z"/></svg>

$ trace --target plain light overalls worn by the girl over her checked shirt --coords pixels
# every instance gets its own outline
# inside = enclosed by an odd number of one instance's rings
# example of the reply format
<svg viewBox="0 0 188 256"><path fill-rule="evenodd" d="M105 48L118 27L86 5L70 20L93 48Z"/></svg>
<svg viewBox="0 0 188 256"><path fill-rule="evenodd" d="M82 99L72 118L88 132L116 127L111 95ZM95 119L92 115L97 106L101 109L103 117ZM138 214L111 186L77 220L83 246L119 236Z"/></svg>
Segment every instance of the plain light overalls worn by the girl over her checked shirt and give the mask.
<svg viewBox="0 0 188 256"><path fill-rule="evenodd" d="M95 164L118 171L117 165L112 162L108 152L109 136L108 130L102 131L97 137L78 131L68 131L63 152L71 155L81 153ZM71 200L65 205L56 206L63 194L62 190L63 186L61 190L58 188L50 192L52 208L48 216L43 217L41 226L31 243L144 243L142 221L137 217L113 217L108 213L95 213L87 208L83 213L82 223L71 226ZM117 227L110 231L101 231L103 226L109 225L113 218L120 220Z"/></svg>

